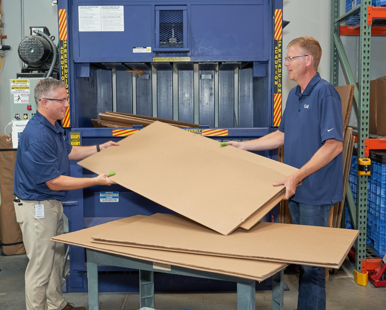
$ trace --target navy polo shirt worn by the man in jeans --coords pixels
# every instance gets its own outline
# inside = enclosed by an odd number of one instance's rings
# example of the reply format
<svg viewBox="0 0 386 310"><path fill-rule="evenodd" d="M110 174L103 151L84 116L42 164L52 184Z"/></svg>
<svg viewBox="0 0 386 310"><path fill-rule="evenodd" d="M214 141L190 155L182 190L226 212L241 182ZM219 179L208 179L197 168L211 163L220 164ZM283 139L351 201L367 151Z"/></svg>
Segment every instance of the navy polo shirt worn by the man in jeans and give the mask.
<svg viewBox="0 0 386 310"><path fill-rule="evenodd" d="M315 74L301 93L289 92L279 130L284 133L284 163L301 168L328 139L343 142L342 103L334 86ZM343 200L342 153L306 177L292 200L309 205Z"/></svg>

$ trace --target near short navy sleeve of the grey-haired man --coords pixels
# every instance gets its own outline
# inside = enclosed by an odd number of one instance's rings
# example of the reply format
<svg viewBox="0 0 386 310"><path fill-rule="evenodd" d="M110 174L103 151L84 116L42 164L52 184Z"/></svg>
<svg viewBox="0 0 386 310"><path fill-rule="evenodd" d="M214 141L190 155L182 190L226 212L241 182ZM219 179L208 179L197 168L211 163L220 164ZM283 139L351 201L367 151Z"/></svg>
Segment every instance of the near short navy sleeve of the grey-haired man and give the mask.
<svg viewBox="0 0 386 310"><path fill-rule="evenodd" d="M32 143L22 154L22 163L36 184L61 175L55 149L46 141Z"/></svg>

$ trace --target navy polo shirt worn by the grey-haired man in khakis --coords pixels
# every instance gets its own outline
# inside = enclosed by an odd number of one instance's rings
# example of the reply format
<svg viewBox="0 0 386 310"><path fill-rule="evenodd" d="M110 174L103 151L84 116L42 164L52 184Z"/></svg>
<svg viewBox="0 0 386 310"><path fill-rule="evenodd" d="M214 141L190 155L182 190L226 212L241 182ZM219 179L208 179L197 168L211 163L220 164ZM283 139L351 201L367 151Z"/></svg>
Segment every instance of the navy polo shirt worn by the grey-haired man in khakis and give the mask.
<svg viewBox="0 0 386 310"><path fill-rule="evenodd" d="M61 200L66 190L50 190L46 181L70 175L68 154L72 146L64 129L52 125L38 111L20 135L16 153L14 194L23 200Z"/></svg>

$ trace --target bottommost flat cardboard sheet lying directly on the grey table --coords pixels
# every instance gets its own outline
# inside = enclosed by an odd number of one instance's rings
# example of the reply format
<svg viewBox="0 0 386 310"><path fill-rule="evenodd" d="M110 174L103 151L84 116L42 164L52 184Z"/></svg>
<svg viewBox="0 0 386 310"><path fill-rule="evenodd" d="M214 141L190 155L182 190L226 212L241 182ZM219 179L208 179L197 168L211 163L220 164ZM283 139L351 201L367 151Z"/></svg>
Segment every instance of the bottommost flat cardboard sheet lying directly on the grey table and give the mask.
<svg viewBox="0 0 386 310"><path fill-rule="evenodd" d="M53 237L52 240L81 246L83 248L95 249L102 252L120 254L132 258L141 258L156 263L170 264L217 272L224 275L240 276L251 280L262 281L282 270L287 265L283 263L273 263L266 261L256 261L242 258L226 258L220 256L209 256L201 254L178 253L161 250L131 248L128 246L108 245L91 243L91 236L111 229L117 229L124 225L135 222L145 216L132 216L125 219L101 224L98 226L82 229L80 231L69 232L60 236Z"/></svg>

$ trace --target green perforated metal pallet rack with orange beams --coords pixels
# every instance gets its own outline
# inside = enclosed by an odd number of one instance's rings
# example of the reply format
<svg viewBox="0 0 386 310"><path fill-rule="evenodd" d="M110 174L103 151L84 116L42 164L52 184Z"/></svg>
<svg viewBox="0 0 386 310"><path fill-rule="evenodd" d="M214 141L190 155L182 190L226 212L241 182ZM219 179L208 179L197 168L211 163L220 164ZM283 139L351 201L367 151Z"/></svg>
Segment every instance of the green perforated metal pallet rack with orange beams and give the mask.
<svg viewBox="0 0 386 310"><path fill-rule="evenodd" d="M386 8L372 7L371 0L362 0L361 4L344 15L339 15L340 1L332 0L331 3L331 83L338 86L339 61L342 71L349 84L355 85L354 101L358 119L358 158L367 157L366 139L369 138L369 93L370 93L370 64L371 64L371 36L386 35ZM357 14L359 12L359 14ZM355 18L353 17L354 15ZM374 20L374 22L373 22ZM350 68L340 35L359 35L359 88ZM359 92L358 89L361 91ZM367 152L368 155L368 152ZM366 259L366 224L367 224L367 175L357 176L357 201L355 208L354 227L359 230L355 248L354 280L362 276L362 260ZM349 185L348 185L349 187ZM347 195L351 194L347 190ZM347 196L346 195L346 196ZM350 199L351 198L351 199ZM347 196L348 204L353 204L351 197ZM367 277L367 275L366 275ZM367 278L366 278L367 279Z"/></svg>

